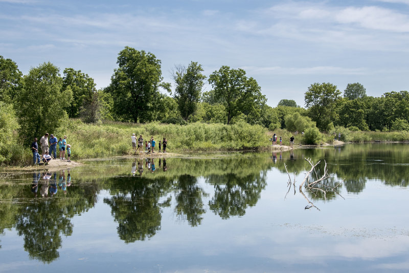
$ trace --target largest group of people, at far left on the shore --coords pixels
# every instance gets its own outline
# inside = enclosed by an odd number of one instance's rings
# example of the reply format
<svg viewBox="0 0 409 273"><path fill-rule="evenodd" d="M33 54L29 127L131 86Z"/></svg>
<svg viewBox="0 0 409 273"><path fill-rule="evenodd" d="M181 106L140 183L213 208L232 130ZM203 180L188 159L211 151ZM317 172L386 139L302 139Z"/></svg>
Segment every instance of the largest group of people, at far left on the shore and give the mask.
<svg viewBox="0 0 409 273"><path fill-rule="evenodd" d="M60 138L59 140L53 135L50 135L50 139L48 139L49 134L46 133L40 138L40 147L41 147L41 156L38 153L38 144L37 138L34 138L33 143L31 143L31 151L33 152L33 164L40 165L48 164L51 159L57 159L57 144L59 150L59 157L61 160L65 160L65 151L67 155L67 162L71 162L71 145L67 144L67 137ZM54 156L54 157L53 157Z"/></svg>

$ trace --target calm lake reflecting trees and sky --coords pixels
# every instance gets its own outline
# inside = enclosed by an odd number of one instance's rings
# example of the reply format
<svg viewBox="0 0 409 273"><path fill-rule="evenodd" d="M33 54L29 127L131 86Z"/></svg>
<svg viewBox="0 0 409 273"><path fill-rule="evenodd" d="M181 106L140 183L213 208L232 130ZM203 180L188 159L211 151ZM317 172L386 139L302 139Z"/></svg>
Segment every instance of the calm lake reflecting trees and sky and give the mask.
<svg viewBox="0 0 409 273"><path fill-rule="evenodd" d="M408 181L405 143L3 173L0 271L407 271Z"/></svg>

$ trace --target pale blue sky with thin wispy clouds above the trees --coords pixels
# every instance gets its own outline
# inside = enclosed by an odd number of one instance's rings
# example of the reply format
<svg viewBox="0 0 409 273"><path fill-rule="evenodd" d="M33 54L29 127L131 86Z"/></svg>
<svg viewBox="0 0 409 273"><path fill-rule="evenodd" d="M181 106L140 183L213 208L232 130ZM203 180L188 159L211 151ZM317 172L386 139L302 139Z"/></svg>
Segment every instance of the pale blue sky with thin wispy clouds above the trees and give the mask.
<svg viewBox="0 0 409 273"><path fill-rule="evenodd" d="M23 74L50 61L104 88L125 46L153 53L172 84L191 61L207 76L243 69L271 107L304 107L315 82L379 97L409 90L409 0L0 0L0 55Z"/></svg>

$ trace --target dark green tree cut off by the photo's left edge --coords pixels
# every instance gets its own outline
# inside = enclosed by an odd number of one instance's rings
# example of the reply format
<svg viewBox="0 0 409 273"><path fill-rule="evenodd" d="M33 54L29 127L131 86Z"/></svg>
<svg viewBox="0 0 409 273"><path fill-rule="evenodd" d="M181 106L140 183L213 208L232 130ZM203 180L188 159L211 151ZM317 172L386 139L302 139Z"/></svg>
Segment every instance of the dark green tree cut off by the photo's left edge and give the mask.
<svg viewBox="0 0 409 273"><path fill-rule="evenodd" d="M0 55L0 101L11 103L21 90L22 73L11 59Z"/></svg>

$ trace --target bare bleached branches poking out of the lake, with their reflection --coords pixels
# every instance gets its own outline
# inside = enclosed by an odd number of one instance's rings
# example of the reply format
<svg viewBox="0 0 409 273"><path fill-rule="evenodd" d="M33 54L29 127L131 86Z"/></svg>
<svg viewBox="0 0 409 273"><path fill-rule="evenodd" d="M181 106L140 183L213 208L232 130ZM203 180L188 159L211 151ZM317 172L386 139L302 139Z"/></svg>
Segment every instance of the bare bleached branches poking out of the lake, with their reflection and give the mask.
<svg viewBox="0 0 409 273"><path fill-rule="evenodd" d="M311 207L315 207L316 209L318 209L320 211L320 209L318 207L316 207L313 203L313 201L311 201L310 199L308 199L308 197L304 194L303 192L303 186L306 188L307 191L311 191L311 192L322 192L324 195L324 199L327 200L327 193L328 192L334 192L335 194L339 195L340 197L344 198L342 195L340 195L337 191L336 188L342 184L343 181L340 181L337 185L335 185L334 187L330 187L324 183L322 183L325 179L330 178L331 176L328 174L328 169L327 169L327 162L324 160L325 162L325 166L324 166L324 174L319 177L318 174L316 173L315 167L320 164L321 160L318 161L316 164L314 164L312 162L312 160L310 158L304 158L305 161L307 161L310 166L311 169L305 174L303 181L300 184L299 187L299 192L300 194L307 200L308 205L305 206L305 209L309 209ZM284 167L285 167L285 171L288 174L288 179L289 181L287 182L288 185L288 192L286 193L284 199L287 197L287 194L290 192L291 190L291 177L290 174L287 171L287 166L284 163ZM313 174L315 175L315 177L313 178ZM310 181L310 178L312 178L312 181ZM294 180L292 182L292 185L294 187L294 195L296 194L296 174L294 173ZM319 186L322 186L324 188L321 188ZM345 198L344 198L345 199Z"/></svg>

